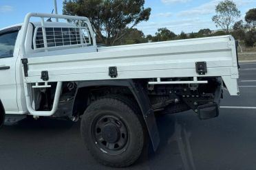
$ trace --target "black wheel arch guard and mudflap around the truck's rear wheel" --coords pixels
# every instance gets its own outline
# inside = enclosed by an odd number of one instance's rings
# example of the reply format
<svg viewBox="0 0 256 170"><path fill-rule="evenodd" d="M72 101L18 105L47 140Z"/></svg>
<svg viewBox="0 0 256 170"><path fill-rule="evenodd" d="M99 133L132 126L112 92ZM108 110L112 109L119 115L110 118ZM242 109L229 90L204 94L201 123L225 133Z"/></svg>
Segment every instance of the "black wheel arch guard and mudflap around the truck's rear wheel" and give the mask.
<svg viewBox="0 0 256 170"><path fill-rule="evenodd" d="M138 106L140 107L142 117L147 125L147 130L151 138L153 149L156 150L160 142L158 127L156 125L156 119L153 109L151 108L149 97L147 96L145 89L142 87L141 82L139 80L95 80L87 82L78 82L77 92L81 88L90 88L96 86L120 86L129 89L134 99L136 99ZM81 96L81 94L78 95L78 93L76 93L74 103L76 103L76 99L80 99L79 96Z"/></svg>

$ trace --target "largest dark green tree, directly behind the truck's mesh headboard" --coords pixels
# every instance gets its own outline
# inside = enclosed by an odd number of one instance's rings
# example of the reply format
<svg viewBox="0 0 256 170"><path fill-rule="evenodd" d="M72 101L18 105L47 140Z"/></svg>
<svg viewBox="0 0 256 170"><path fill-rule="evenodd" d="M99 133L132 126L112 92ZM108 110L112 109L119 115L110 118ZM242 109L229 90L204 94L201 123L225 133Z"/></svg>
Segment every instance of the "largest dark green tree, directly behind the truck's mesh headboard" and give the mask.
<svg viewBox="0 0 256 170"><path fill-rule="evenodd" d="M151 8L144 4L145 0L65 0L63 14L87 16L97 41L114 45L127 34L124 30L149 20Z"/></svg>

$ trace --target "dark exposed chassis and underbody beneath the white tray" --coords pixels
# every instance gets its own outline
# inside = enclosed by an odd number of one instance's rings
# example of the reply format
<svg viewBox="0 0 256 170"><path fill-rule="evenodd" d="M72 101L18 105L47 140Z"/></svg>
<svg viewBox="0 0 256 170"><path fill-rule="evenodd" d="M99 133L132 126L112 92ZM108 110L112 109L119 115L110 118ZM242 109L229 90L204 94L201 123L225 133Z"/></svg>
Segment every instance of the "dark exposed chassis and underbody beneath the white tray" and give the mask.
<svg viewBox="0 0 256 170"><path fill-rule="evenodd" d="M192 109L200 119L208 119L218 115L217 105L222 95L222 80L220 77L204 80L207 80L209 84L149 85L150 80L147 79L132 80L132 82L133 84L140 84L145 89L152 109L156 114L173 114ZM122 81L129 82L130 80ZM74 119L83 114L87 106L93 101L108 95L123 95L134 99L134 94L128 86L118 86L118 81L110 82L115 85L99 85L98 81L94 82L98 86L89 86L87 82L65 82L58 104L58 111L52 116ZM37 99L35 105L38 111L52 110L56 83L50 83L49 85L52 88L41 88L34 91L35 99ZM202 115L203 106L206 108L214 106L216 108L207 117Z"/></svg>

